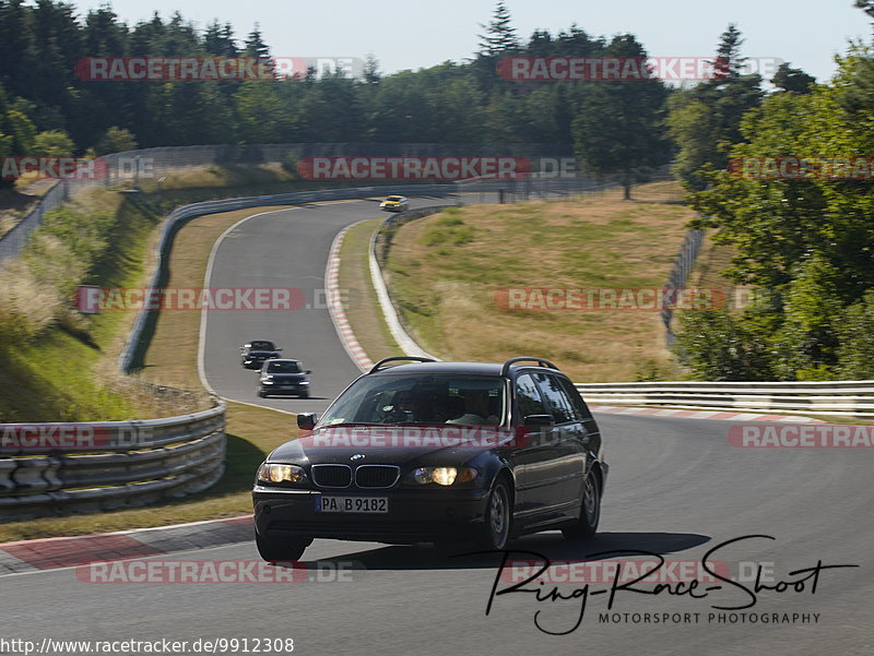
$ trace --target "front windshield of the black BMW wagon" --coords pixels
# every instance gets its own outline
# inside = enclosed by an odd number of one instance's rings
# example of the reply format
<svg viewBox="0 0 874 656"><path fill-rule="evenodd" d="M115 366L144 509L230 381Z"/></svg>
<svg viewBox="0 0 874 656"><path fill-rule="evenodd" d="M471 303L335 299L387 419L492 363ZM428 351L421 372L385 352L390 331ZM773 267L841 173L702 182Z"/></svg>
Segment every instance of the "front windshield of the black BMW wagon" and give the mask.
<svg viewBox="0 0 874 656"><path fill-rule="evenodd" d="M336 424L464 424L498 426L507 415L497 375L395 374L359 379L328 409Z"/></svg>

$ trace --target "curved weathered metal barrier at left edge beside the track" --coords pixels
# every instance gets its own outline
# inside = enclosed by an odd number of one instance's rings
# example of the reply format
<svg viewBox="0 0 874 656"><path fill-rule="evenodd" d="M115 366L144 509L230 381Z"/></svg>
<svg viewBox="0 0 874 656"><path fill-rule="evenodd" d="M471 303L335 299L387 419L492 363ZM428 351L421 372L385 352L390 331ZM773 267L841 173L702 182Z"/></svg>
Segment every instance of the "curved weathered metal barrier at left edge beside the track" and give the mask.
<svg viewBox="0 0 874 656"><path fill-rule="evenodd" d="M0 453L9 454L0 458L0 517L140 506L204 490L224 473L225 408L220 401L164 419L0 425Z"/></svg>

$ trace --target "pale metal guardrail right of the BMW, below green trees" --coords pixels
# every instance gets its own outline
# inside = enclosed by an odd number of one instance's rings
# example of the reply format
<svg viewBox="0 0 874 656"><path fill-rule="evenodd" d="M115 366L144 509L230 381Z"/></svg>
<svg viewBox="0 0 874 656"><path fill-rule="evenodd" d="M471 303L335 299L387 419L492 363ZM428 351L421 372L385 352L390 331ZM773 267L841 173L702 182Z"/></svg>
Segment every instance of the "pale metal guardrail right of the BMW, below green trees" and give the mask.
<svg viewBox="0 0 874 656"><path fill-rule="evenodd" d="M874 416L874 381L575 383L590 403Z"/></svg>

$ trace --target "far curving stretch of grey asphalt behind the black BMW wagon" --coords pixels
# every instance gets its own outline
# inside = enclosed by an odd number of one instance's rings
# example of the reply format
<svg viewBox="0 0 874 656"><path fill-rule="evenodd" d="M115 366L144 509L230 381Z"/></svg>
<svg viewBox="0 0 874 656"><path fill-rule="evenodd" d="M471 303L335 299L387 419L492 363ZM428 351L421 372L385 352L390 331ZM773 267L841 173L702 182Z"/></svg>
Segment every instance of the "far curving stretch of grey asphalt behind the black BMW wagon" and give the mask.
<svg viewBox="0 0 874 656"><path fill-rule="evenodd" d="M269 212L238 225L217 248L211 287L291 287L303 290L298 310L209 312L204 372L225 398L297 412L321 412L361 371L336 336L324 301L324 270L336 234L366 218L388 216L378 201L328 203ZM411 199L411 207L454 204L454 198ZM311 397L259 398L258 372L244 369L239 347L249 339L271 339L282 356L311 369Z"/></svg>

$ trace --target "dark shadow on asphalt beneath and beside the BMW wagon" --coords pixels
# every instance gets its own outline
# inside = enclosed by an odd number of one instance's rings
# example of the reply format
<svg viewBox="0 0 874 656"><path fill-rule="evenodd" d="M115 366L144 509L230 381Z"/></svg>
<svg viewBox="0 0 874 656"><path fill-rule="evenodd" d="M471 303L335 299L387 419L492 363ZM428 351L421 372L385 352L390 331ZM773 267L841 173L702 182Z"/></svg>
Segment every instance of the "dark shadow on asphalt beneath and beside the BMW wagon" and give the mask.
<svg viewBox="0 0 874 656"><path fill-rule="evenodd" d="M604 560L646 553L676 553L710 540L695 533L599 533L594 538L567 540L560 533L543 533L510 541L510 560L533 560L545 556L551 561ZM607 552L607 553L604 553ZM344 553L335 558L305 561L343 563L353 570L462 570L489 569L500 564L503 552L471 553L470 548L382 547Z"/></svg>

